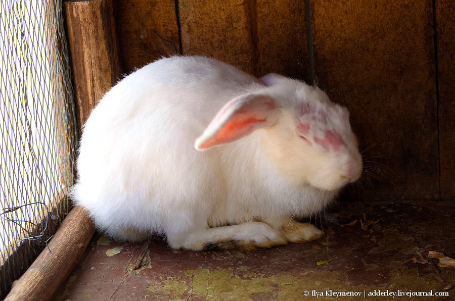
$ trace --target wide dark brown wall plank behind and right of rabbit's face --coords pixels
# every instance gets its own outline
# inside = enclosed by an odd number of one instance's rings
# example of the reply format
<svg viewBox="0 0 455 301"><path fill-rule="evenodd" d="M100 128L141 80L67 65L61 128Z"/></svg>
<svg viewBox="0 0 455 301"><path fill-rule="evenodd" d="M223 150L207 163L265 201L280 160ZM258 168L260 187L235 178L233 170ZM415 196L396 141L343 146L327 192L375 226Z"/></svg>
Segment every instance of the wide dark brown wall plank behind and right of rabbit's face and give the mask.
<svg viewBox="0 0 455 301"><path fill-rule="evenodd" d="M366 191L352 189L351 197L438 198L432 2L311 6L316 82L348 107L361 148L371 146L366 161L379 162L366 172L383 178L372 177L373 187L364 179Z"/></svg>

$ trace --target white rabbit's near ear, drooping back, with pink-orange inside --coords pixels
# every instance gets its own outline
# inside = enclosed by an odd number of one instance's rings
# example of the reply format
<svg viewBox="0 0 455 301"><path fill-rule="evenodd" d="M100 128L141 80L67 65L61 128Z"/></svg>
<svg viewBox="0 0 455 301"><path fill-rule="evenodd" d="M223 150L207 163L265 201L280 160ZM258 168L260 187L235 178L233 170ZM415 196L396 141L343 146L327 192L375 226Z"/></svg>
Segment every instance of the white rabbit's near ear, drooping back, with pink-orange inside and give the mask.
<svg viewBox="0 0 455 301"><path fill-rule="evenodd" d="M240 139L258 128L277 120L279 110L274 99L267 95L247 94L225 104L196 139L197 150Z"/></svg>

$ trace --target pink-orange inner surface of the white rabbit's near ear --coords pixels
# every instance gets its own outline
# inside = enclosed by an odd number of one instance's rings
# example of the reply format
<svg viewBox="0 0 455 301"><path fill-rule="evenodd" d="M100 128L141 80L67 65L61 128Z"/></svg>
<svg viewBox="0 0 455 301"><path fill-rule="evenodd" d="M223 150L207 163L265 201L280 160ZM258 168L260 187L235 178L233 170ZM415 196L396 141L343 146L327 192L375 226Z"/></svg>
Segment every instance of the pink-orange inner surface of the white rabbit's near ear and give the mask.
<svg viewBox="0 0 455 301"><path fill-rule="evenodd" d="M216 144L234 141L245 136L254 130L254 125L257 123L266 122L267 119L257 119L255 116L247 116L244 118L232 118L226 122L224 126L207 142L201 144L200 148L207 148Z"/></svg>

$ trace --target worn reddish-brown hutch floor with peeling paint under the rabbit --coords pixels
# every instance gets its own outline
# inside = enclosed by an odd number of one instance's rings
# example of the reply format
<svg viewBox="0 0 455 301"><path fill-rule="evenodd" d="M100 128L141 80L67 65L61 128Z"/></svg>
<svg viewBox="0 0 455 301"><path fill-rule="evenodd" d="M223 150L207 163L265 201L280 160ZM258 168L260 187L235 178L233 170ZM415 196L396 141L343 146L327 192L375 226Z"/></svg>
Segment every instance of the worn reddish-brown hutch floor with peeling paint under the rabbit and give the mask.
<svg viewBox="0 0 455 301"><path fill-rule="evenodd" d="M336 292L455 298L455 268L428 257L455 258L455 203L342 202L316 223L326 231L319 240L254 252L180 252L160 240L119 243L96 234L56 300L324 300Z"/></svg>

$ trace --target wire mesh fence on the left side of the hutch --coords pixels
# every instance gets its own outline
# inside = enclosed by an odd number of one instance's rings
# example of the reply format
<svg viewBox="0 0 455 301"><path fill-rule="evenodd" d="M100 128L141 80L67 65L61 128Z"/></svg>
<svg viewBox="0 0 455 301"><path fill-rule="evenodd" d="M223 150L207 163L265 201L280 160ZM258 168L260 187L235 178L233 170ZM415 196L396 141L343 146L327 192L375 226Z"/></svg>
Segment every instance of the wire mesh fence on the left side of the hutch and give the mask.
<svg viewBox="0 0 455 301"><path fill-rule="evenodd" d="M70 207L77 126L62 1L0 1L0 57L1 298Z"/></svg>

